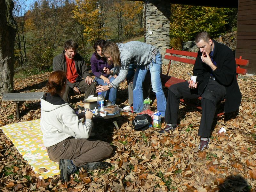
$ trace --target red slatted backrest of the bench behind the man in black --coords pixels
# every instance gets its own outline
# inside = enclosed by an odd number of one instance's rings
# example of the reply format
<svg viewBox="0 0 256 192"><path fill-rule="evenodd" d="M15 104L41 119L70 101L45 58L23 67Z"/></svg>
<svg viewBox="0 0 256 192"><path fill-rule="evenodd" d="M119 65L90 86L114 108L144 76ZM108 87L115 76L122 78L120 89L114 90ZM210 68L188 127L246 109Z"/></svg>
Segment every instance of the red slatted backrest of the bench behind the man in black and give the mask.
<svg viewBox="0 0 256 192"><path fill-rule="evenodd" d="M179 51L179 50L174 50L172 49L166 49L166 53L170 53L171 55L164 55L165 59L170 60L169 61L169 65L168 65L168 71L167 74L169 74L170 71L170 66L171 66L171 61L179 61L179 62L183 62L183 63L189 63L194 65L196 62L196 57L197 57L197 52L188 52L188 51ZM173 55L175 54L175 55ZM189 58L183 58L180 56L187 56L187 57L192 57L192 59ZM236 58L236 74L242 74L245 75L247 73L247 69L244 68L240 68L240 66L248 66L249 65L249 60L246 59L242 59L242 57L240 57L239 59Z"/></svg>

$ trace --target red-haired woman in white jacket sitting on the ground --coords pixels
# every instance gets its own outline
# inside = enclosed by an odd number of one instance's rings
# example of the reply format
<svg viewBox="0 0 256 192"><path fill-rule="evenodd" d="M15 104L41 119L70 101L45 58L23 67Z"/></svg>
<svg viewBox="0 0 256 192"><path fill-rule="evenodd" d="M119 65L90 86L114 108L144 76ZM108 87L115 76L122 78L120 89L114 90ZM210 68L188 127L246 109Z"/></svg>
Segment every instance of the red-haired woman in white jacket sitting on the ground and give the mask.
<svg viewBox="0 0 256 192"><path fill-rule="evenodd" d="M41 98L41 129L49 158L59 162L60 179L69 181L69 176L81 167L107 168L109 163L99 161L109 157L113 148L107 142L88 139L93 114L89 110L79 114L85 115L83 124L74 108L62 100L66 82L63 71L54 71L49 76L48 91Z"/></svg>

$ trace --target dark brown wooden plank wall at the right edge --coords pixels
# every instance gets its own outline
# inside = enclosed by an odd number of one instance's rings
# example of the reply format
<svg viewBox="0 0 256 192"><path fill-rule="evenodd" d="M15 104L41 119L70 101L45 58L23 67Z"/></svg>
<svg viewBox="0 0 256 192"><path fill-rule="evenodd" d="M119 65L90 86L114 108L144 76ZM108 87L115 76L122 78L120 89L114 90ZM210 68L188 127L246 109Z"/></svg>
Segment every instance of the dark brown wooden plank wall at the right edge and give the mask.
<svg viewBox="0 0 256 192"><path fill-rule="evenodd" d="M256 0L238 0L236 58L249 60L247 73L256 74Z"/></svg>

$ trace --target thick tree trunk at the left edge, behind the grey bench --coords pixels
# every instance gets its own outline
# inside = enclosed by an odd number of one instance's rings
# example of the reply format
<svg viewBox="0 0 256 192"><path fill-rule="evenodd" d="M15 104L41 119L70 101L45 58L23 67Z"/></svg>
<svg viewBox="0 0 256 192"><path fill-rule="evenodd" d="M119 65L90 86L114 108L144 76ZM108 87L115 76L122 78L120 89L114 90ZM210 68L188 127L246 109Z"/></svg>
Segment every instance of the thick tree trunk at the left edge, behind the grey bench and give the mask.
<svg viewBox="0 0 256 192"><path fill-rule="evenodd" d="M14 42L16 22L12 0L0 0L0 95L13 91Z"/></svg>

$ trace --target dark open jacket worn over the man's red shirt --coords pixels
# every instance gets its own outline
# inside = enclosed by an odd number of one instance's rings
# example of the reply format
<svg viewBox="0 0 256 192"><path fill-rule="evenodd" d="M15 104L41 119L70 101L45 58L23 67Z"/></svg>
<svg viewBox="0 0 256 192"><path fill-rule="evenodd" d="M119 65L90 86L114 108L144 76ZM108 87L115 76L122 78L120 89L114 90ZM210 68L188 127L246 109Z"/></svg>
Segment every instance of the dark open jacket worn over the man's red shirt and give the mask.
<svg viewBox="0 0 256 192"><path fill-rule="evenodd" d="M81 57L78 53L76 53L74 60L75 60L76 71L78 74L76 81L81 81L82 78L85 79L87 76L90 76L87 65L85 64L83 57ZM58 71L58 70L67 72L65 50L61 54L54 57L53 59L53 71ZM73 89L76 84L70 83L68 81L67 85Z"/></svg>

